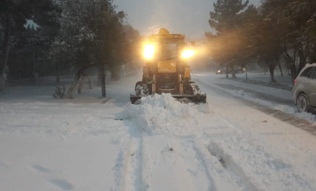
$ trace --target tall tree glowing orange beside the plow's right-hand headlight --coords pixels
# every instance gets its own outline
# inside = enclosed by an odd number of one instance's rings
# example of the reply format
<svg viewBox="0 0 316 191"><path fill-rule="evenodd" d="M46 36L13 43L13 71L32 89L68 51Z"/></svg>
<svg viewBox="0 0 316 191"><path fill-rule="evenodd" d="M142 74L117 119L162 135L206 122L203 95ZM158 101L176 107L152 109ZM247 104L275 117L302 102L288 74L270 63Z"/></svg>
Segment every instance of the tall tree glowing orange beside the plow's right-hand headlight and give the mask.
<svg viewBox="0 0 316 191"><path fill-rule="evenodd" d="M206 37L211 47L210 53L213 59L221 64L226 64L235 77L233 65L238 65L239 55L248 46L245 34L242 30L244 22L243 12L249 1L242 0L218 0L214 3L214 12L210 12L209 26L216 30L216 34L207 32Z"/></svg>

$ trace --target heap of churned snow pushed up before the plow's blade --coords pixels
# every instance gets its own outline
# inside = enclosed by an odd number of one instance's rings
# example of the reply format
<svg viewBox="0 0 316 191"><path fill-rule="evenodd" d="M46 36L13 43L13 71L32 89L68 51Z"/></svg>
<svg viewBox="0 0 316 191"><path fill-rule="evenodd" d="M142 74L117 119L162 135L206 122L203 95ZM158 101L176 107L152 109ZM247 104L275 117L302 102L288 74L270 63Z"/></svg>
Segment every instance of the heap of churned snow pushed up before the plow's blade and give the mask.
<svg viewBox="0 0 316 191"><path fill-rule="evenodd" d="M170 93L154 94L152 97L142 98L140 102L138 105L128 104L123 114L124 118L132 120L148 134L163 132L169 127L192 129L192 126L197 126L197 116L209 112L207 104L183 104Z"/></svg>

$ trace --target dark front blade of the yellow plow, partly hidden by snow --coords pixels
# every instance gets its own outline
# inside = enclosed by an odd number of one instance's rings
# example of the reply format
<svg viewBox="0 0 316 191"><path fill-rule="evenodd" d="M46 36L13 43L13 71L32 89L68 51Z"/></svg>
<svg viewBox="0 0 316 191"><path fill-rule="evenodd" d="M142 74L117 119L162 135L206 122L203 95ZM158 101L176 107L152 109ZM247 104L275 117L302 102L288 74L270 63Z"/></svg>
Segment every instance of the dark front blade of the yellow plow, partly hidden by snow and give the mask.
<svg viewBox="0 0 316 191"><path fill-rule="evenodd" d="M148 96L153 96L153 95L141 95L141 96L137 96L137 95L132 95L130 94L130 103L131 104L135 104L135 102L137 100L140 100L142 97L148 97ZM196 104L200 104L206 103L206 93L205 94L172 94L171 95L173 98L181 101L183 99L187 99L190 102L196 103Z"/></svg>

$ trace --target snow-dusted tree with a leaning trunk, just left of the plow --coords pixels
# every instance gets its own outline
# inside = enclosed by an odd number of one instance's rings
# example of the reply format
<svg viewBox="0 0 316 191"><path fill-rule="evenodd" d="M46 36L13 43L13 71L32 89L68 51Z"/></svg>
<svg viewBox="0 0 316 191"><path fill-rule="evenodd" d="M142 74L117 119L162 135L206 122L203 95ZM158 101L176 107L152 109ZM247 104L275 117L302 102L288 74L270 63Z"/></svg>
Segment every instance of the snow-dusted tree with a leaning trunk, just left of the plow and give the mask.
<svg viewBox="0 0 316 191"><path fill-rule="evenodd" d="M111 0L63 1L61 7L61 32L52 44L51 55L55 59L67 58L63 60L71 61L78 68L67 95L73 98L74 89L87 68L98 66L104 70L104 66L111 69L123 63L125 14L116 12ZM102 96L106 96L105 83Z"/></svg>

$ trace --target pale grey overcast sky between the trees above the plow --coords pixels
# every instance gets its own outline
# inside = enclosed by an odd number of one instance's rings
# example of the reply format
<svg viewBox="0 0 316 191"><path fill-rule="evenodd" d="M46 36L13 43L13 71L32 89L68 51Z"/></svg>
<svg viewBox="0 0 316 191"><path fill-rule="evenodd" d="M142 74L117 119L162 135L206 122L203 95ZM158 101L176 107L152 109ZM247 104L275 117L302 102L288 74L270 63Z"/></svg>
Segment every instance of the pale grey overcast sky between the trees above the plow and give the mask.
<svg viewBox="0 0 316 191"><path fill-rule="evenodd" d="M127 21L142 34L151 34L159 28L181 33L191 39L210 31L209 11L216 0L114 0L117 10L127 13ZM260 0L250 0L259 5Z"/></svg>

